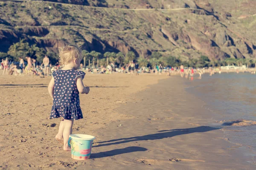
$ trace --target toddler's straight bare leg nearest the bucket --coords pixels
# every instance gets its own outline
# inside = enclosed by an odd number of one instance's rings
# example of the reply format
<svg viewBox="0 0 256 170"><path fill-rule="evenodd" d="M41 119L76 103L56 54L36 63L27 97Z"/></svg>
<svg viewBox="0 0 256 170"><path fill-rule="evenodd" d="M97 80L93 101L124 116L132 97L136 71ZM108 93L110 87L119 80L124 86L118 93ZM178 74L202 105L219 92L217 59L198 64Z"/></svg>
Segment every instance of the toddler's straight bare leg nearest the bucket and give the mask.
<svg viewBox="0 0 256 170"><path fill-rule="evenodd" d="M68 146L69 136L72 134L73 120L64 119L64 131L63 131L63 150L71 150Z"/></svg>

